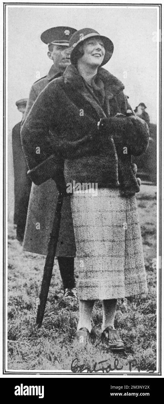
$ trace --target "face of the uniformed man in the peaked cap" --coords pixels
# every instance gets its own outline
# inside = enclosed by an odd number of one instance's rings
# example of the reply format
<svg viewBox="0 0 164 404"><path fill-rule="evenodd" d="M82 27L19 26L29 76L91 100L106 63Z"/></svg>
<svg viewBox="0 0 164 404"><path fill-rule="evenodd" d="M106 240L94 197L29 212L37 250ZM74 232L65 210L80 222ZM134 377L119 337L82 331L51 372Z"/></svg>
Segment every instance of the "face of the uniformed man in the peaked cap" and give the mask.
<svg viewBox="0 0 164 404"><path fill-rule="evenodd" d="M68 46L53 45L53 50L48 51L48 57L53 60L53 63L59 72L64 72L65 68L70 64L70 55L65 55L64 51Z"/></svg>

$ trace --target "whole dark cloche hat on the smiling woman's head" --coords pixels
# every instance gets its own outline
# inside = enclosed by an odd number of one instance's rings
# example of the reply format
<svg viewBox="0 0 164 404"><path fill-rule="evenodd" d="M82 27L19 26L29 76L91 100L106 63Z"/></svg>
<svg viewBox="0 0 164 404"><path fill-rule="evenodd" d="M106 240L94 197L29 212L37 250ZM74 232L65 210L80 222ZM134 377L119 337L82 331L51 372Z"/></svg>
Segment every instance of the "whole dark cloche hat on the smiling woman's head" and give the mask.
<svg viewBox="0 0 164 404"><path fill-rule="evenodd" d="M103 41L104 48L105 48L105 56L103 59L103 62L101 63L101 66L105 65L111 58L113 51L114 51L114 44L113 42L107 38L107 36L102 36L99 34L99 32L95 31L95 29L92 28L82 28L79 29L79 31L76 31L70 38L69 41L69 51L70 53L70 60L71 62L74 59L74 56L76 54L76 49L79 44L81 44L85 39L92 38L95 36L99 36L101 40Z"/></svg>

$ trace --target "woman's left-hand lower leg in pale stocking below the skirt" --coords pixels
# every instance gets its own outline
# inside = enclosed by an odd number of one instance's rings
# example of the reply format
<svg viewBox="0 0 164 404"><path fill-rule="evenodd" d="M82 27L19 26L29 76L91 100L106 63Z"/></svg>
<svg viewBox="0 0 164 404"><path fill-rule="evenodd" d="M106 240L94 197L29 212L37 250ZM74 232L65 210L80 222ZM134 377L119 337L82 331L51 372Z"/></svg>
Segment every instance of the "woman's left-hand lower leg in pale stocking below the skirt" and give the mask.
<svg viewBox="0 0 164 404"><path fill-rule="evenodd" d="M95 300L80 300L79 302L79 322L77 331L80 328L87 328L91 331L91 316Z"/></svg>

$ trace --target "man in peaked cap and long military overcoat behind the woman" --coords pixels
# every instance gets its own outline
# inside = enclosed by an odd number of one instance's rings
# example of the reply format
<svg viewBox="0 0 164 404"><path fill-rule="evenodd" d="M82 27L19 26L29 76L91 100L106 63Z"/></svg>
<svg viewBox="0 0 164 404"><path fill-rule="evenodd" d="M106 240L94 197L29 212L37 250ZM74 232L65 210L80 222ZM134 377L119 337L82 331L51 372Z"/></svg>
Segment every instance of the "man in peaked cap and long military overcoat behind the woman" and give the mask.
<svg viewBox="0 0 164 404"><path fill-rule="evenodd" d="M71 27L54 27L42 33L41 40L45 44L48 44L48 57L53 61L53 65L47 76L33 84L29 93L24 120L44 87L51 80L62 76L65 68L69 65L69 56L66 55L64 51L68 48L69 39L74 32L76 32L76 29ZM36 150L36 153L41 154L42 150ZM53 225L57 198L57 187L55 181L52 179L39 186L32 183L23 250L43 255L47 254L48 240ZM75 255L76 245L70 201L69 198L64 198L56 250L60 274L63 281L64 298L71 297L77 299L74 278Z"/></svg>

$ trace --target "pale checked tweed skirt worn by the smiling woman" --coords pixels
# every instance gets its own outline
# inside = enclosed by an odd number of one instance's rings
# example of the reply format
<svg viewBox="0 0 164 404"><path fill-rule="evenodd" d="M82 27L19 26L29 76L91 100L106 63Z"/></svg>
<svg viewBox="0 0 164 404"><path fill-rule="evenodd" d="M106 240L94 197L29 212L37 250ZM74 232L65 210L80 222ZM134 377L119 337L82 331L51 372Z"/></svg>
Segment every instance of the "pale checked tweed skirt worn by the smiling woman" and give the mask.
<svg viewBox="0 0 164 404"><path fill-rule="evenodd" d="M137 200L119 189L71 194L80 300L147 293Z"/></svg>

